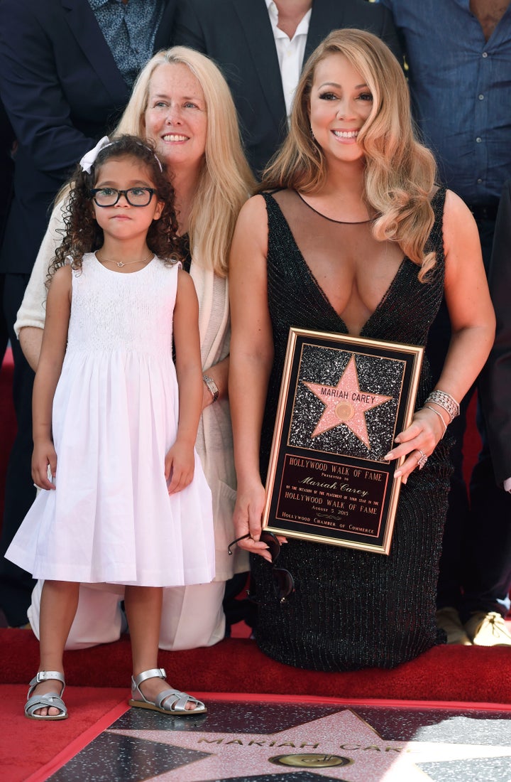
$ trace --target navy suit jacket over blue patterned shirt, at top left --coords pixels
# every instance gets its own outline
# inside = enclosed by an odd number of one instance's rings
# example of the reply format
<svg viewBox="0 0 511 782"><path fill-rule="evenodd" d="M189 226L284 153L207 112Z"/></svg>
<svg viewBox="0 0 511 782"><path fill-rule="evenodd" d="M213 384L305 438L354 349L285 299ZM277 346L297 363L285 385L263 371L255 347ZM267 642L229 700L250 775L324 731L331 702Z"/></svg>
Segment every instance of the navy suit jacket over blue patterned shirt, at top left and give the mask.
<svg viewBox="0 0 511 782"><path fill-rule="evenodd" d="M175 5L165 4L155 50ZM55 194L130 91L87 0L0 0L0 94L18 142L0 271L30 274Z"/></svg>

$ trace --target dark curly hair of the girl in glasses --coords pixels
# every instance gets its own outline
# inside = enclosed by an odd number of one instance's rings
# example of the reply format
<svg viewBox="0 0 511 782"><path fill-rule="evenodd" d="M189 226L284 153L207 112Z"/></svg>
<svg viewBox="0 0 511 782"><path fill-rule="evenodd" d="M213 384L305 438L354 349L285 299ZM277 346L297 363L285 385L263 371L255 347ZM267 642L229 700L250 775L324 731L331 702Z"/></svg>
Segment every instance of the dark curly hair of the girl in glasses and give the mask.
<svg viewBox="0 0 511 782"><path fill-rule="evenodd" d="M90 169L90 174L77 165L73 177L69 181L70 191L64 209L65 230L62 243L55 250L55 259L48 269L48 284L55 270L71 261L73 269L82 267L85 253L94 253L103 245L103 229L94 218L92 196L90 191L98 181L98 172L103 163L110 158L130 157L144 163L150 174L156 190L156 198L165 206L159 220L154 220L147 231L147 246L151 253L165 263L175 263L179 260L179 238L177 237L177 220L174 210L174 188L169 182L165 169L161 170L160 162L154 153L151 142L133 135L121 135L112 138L107 146L100 149L98 156Z"/></svg>

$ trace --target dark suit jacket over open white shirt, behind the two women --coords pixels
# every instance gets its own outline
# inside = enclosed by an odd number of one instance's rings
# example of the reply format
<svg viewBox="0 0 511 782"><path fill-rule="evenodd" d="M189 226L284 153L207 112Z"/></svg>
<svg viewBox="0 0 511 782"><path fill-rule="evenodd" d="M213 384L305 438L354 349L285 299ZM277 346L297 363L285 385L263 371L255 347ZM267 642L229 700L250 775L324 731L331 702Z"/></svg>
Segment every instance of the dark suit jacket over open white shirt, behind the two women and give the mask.
<svg viewBox="0 0 511 782"><path fill-rule="evenodd" d="M339 27L378 35L402 62L392 14L366 0L313 0L303 61ZM172 42L204 52L222 68L248 160L260 173L287 132L279 59L264 0L178 0Z"/></svg>

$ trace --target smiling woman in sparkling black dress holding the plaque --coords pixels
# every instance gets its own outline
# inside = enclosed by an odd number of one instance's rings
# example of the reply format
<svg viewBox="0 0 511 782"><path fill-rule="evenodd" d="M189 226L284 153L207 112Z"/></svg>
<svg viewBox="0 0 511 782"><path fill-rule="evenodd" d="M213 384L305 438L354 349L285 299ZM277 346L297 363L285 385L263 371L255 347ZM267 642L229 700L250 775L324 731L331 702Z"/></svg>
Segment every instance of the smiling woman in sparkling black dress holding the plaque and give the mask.
<svg viewBox="0 0 511 782"><path fill-rule="evenodd" d="M442 640L442 437L488 356L495 318L474 220L435 175L392 53L371 34L335 30L304 67L289 137L238 219L229 277L236 537L254 554L257 643L290 665L391 668ZM444 292L445 367L433 389L424 365L413 422L385 455L405 457L390 554L289 539L279 569L295 591L280 602L267 562L275 553L260 536L289 327L424 345Z"/></svg>

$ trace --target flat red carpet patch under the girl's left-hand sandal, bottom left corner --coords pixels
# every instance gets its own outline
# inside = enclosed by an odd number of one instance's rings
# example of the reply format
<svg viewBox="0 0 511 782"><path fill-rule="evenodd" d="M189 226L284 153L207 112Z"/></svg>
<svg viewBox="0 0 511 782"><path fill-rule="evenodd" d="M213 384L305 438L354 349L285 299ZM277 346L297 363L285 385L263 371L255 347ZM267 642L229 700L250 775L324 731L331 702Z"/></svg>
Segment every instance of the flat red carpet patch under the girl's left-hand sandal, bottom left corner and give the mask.
<svg viewBox="0 0 511 782"><path fill-rule="evenodd" d="M23 716L27 687L2 685L2 782L47 779L52 767L56 768L76 755L126 711L127 694L126 688L116 690L109 687L98 691L91 687L69 687L66 689L66 705L69 712L73 709L73 719L42 725ZM20 752L23 746L26 751ZM51 766L48 767L48 764Z"/></svg>

